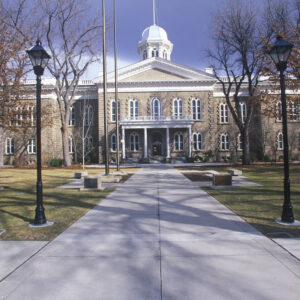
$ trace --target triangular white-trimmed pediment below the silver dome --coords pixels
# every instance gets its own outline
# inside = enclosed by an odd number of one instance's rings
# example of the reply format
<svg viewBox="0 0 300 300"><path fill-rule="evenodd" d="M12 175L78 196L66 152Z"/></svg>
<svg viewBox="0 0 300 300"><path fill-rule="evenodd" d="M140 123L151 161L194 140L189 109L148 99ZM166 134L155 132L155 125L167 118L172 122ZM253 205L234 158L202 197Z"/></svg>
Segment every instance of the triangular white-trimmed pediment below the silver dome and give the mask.
<svg viewBox="0 0 300 300"><path fill-rule="evenodd" d="M149 72L150 70L155 70L156 72ZM147 76L147 74L149 76ZM142 60L138 63L119 69L118 79L120 82L128 82L131 80L135 82L164 81L162 74L167 74L165 76L166 81L216 81L216 78L209 73L192 69L190 67L158 57ZM114 72L109 73L107 76L107 81L114 82L114 80ZM101 76L99 77L98 82L102 82Z"/></svg>

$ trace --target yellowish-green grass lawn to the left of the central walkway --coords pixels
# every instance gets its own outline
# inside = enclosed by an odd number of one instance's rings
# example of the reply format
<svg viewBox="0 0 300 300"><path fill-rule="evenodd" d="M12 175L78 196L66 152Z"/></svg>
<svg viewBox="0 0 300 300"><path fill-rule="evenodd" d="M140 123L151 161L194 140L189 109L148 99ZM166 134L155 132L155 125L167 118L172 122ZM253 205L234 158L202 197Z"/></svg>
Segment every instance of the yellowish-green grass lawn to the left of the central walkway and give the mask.
<svg viewBox="0 0 300 300"><path fill-rule="evenodd" d="M0 186L5 187L0 190L0 229L6 230L0 240L52 240L112 191L79 192L56 188L80 171L67 168L42 171L45 214L54 225L30 228L28 225L34 219L36 207L36 170L0 169ZM99 169L87 171L89 175L103 172Z"/></svg>

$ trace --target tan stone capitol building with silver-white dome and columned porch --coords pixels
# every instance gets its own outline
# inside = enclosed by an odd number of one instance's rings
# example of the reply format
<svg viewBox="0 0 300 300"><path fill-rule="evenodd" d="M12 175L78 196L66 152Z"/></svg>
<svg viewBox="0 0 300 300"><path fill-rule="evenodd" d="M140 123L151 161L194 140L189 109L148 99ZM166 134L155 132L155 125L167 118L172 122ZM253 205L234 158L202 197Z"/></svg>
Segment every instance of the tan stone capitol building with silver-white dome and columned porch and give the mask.
<svg viewBox="0 0 300 300"><path fill-rule="evenodd" d="M118 70L118 112L115 74L108 74L106 105L110 160L116 159L116 118L120 121L123 162L240 159L242 143L239 130L212 69L201 71L173 62L173 44L168 40L166 31L157 25L144 30L137 50L140 61ZM262 82L261 87L265 89L267 84L267 81ZM54 83L44 81L43 98L57 106L53 90ZM249 101L246 89L240 96L245 99L241 114L246 118ZM289 105L291 153L292 158L299 159L299 112L295 103ZM260 112L261 106L257 103L249 130L251 158L278 160L283 150L280 115L264 117ZM53 113L53 120L51 126L44 128L43 134L43 145L46 145L43 153L48 160L62 156L58 114ZM82 127L85 132L89 127L84 143L82 134L78 134ZM91 161L103 162L102 76L95 81L80 82L76 101L70 110L69 130L69 151L75 161L81 160L83 146L87 151L93 148ZM14 153L10 149L10 140L7 141L6 154L7 158L11 158ZM33 153L27 151L27 154Z"/></svg>

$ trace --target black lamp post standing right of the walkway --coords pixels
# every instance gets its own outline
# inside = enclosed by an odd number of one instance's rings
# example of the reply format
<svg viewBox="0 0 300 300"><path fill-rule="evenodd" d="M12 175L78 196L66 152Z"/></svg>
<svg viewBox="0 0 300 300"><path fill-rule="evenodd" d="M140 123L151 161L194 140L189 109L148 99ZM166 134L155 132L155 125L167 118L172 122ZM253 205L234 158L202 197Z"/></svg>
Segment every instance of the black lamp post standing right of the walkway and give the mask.
<svg viewBox="0 0 300 300"><path fill-rule="evenodd" d="M277 70L280 72L281 106L282 106L282 133L283 133L283 156L284 156L284 203L282 207L281 221L284 223L294 223L293 207L290 199L290 178L289 178L289 144L287 131L287 113L285 96L285 76L284 71L291 54L293 44L277 36L276 43L268 52Z"/></svg>

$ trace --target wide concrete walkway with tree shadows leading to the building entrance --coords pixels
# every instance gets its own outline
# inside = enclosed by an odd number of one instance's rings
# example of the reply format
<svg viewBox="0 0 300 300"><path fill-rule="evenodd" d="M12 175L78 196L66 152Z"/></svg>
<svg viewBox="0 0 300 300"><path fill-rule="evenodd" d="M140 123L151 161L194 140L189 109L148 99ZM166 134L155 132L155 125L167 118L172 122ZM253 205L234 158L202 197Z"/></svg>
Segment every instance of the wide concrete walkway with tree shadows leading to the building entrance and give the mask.
<svg viewBox="0 0 300 300"><path fill-rule="evenodd" d="M300 262L171 167L142 168L0 299L299 299Z"/></svg>

